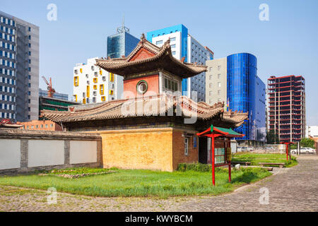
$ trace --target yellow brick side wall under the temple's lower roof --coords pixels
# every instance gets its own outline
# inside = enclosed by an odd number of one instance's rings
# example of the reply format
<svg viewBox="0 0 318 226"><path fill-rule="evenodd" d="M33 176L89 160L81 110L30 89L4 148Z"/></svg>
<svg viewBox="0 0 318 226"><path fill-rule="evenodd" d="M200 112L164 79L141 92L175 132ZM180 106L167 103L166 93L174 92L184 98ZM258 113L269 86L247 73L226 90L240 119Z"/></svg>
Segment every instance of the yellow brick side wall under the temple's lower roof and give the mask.
<svg viewBox="0 0 318 226"><path fill-rule="evenodd" d="M172 171L172 129L98 131L105 168Z"/></svg>

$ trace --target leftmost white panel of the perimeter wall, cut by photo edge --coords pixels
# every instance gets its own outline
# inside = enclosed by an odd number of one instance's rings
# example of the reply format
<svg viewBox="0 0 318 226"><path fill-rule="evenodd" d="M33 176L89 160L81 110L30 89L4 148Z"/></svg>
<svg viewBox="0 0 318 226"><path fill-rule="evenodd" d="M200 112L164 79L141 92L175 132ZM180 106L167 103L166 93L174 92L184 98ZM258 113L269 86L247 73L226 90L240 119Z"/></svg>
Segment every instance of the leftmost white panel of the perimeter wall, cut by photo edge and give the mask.
<svg viewBox="0 0 318 226"><path fill-rule="evenodd" d="M20 167L20 140L0 140L0 169Z"/></svg>

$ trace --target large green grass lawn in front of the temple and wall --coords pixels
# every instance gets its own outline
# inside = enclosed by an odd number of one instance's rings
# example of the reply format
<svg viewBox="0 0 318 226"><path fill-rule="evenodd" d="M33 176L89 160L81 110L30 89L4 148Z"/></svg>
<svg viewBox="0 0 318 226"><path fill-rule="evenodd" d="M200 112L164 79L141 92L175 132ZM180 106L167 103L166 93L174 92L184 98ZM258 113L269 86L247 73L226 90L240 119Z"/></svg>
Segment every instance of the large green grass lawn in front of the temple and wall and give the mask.
<svg viewBox="0 0 318 226"><path fill-rule="evenodd" d="M152 170L116 169L111 174L100 174L78 179L37 174L2 176L1 185L22 186L87 196L195 196L217 195L230 192L238 186L256 182L271 175L265 169L246 168L232 170L232 183L228 182L228 169L216 169L216 186L211 172L160 172Z"/></svg>

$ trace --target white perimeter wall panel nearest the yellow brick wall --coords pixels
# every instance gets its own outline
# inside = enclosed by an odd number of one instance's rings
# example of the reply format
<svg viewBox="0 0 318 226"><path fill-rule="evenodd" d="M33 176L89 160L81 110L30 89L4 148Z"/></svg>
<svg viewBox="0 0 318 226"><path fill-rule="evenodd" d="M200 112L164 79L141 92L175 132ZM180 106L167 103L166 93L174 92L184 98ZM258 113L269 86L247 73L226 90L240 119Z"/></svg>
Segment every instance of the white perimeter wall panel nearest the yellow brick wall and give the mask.
<svg viewBox="0 0 318 226"><path fill-rule="evenodd" d="M97 162L96 141L70 141L70 164Z"/></svg>

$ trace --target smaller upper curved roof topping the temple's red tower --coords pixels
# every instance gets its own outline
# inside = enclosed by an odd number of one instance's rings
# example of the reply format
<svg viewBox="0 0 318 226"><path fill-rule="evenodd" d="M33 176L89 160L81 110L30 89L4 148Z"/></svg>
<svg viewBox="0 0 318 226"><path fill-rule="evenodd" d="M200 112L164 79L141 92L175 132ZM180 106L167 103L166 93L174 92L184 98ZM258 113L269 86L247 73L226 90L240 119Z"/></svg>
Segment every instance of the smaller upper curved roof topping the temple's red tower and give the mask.
<svg viewBox="0 0 318 226"><path fill-rule="evenodd" d="M147 57L138 58L141 52L146 52ZM144 34L136 48L128 57L117 59L96 59L96 66L120 76L129 76L136 73L144 73L158 69L165 69L176 76L189 78L206 71L207 66L190 64L175 59L171 53L170 40L167 40L162 47L148 42Z"/></svg>

